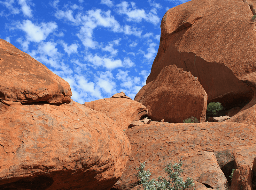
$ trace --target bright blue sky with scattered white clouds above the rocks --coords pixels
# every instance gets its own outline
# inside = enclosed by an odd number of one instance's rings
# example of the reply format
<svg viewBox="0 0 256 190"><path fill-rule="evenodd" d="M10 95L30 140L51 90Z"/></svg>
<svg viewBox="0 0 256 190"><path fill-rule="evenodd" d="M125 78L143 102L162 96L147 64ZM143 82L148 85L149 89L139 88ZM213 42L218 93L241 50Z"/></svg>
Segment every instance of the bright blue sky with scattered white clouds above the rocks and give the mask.
<svg viewBox="0 0 256 190"><path fill-rule="evenodd" d="M1 0L1 38L42 62L83 104L145 85L165 12L188 0Z"/></svg>

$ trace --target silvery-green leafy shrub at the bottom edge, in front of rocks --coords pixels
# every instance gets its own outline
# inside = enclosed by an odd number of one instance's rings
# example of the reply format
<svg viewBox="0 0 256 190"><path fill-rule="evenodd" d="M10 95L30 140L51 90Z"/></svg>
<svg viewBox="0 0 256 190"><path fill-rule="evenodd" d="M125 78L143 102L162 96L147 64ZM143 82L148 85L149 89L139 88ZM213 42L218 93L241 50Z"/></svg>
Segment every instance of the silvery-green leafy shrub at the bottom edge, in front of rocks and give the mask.
<svg viewBox="0 0 256 190"><path fill-rule="evenodd" d="M138 171L136 175L137 179L140 179L140 182L144 189L186 189L191 186L194 186L195 183L192 178L187 178L186 181L183 181L183 178L180 177L180 174L183 172L181 169L182 162L180 163L167 164L165 172L168 173L169 179L165 179L159 176L157 179L150 179L151 172L149 170L145 171L146 162L140 163L140 167L136 168Z"/></svg>

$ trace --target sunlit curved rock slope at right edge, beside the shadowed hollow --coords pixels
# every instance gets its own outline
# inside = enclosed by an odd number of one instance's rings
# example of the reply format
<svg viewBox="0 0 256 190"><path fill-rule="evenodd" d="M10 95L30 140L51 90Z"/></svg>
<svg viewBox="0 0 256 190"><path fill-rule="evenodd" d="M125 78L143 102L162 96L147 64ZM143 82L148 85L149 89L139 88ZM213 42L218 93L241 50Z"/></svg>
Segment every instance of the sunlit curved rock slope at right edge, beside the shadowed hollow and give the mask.
<svg viewBox="0 0 256 190"><path fill-rule="evenodd" d="M244 83L251 86L254 96L252 100L244 106L231 119L224 122L238 122L256 125L256 72L250 73L243 77Z"/></svg>

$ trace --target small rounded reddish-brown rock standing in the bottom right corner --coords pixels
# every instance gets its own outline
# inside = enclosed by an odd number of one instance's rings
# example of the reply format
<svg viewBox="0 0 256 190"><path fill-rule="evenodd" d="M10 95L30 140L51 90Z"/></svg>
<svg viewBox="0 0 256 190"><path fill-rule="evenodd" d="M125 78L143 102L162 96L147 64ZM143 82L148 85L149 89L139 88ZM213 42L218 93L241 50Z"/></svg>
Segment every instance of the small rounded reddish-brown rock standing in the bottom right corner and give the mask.
<svg viewBox="0 0 256 190"><path fill-rule="evenodd" d="M230 189L253 189L252 188L252 169L249 165L241 165L233 173Z"/></svg>

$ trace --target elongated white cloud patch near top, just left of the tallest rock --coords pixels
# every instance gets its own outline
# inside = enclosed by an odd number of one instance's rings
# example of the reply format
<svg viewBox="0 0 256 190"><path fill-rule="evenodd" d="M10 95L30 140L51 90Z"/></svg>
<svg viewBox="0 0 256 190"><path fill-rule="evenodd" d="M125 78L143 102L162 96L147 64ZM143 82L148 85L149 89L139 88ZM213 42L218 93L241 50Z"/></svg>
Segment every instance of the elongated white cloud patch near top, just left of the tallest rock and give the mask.
<svg viewBox="0 0 256 190"><path fill-rule="evenodd" d="M152 9L150 12L146 13L144 9L136 9L134 2L131 2L131 9L129 8L127 1L123 1L116 6L118 7L119 14L126 14L127 21L141 22L142 19L144 19L154 25L158 24L160 21L160 18L157 16L155 9Z"/></svg>

